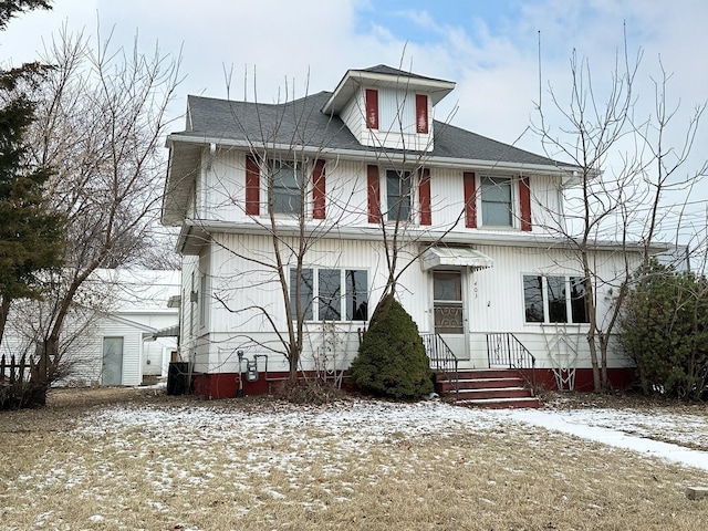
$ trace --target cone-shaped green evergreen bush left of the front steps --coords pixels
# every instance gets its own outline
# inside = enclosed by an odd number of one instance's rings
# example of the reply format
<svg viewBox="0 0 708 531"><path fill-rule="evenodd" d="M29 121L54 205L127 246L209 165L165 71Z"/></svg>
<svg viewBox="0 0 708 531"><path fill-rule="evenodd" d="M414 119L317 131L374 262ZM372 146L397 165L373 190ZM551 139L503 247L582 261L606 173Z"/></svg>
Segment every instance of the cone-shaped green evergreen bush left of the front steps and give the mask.
<svg viewBox="0 0 708 531"><path fill-rule="evenodd" d="M376 306L350 373L363 391L379 396L410 399L433 392L418 326L393 294Z"/></svg>

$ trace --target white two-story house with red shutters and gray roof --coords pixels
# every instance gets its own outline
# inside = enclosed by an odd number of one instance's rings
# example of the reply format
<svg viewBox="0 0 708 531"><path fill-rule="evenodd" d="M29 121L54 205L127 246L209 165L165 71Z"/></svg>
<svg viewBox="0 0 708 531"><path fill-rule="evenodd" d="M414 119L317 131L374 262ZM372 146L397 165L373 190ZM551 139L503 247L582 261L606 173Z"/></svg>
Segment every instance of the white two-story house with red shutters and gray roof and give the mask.
<svg viewBox="0 0 708 531"><path fill-rule="evenodd" d="M503 363L512 341L541 382L592 386L581 268L558 230L573 168L434 119L454 87L378 65L283 104L189 97L162 221L181 228L179 344L196 393L263 391L243 377L251 361L285 375L298 298L300 368L345 369L392 249L397 298L459 368ZM596 251L607 277L618 249Z"/></svg>

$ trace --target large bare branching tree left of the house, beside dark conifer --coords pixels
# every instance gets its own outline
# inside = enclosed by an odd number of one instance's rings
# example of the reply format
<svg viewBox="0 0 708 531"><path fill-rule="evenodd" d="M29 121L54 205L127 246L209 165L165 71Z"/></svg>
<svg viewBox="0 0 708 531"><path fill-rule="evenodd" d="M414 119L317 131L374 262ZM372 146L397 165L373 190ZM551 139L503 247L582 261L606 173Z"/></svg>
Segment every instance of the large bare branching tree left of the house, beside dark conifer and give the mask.
<svg viewBox="0 0 708 531"><path fill-rule="evenodd" d="M115 50L111 35L64 29L44 50L52 64L41 88L33 156L54 168L49 192L69 223L66 269L53 279L37 337L43 369L61 363L60 340L82 284L98 268L135 260L159 208L166 111L178 84L178 60ZM39 310L38 310L39 311Z"/></svg>

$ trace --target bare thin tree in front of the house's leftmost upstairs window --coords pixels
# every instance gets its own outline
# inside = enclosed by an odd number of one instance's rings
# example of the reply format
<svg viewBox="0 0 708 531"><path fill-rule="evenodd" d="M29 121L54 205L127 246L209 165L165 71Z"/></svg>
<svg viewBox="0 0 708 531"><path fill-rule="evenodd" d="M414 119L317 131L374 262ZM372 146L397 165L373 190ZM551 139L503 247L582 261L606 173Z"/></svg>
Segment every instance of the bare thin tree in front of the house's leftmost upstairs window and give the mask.
<svg viewBox="0 0 708 531"><path fill-rule="evenodd" d="M309 138L313 129L323 124L319 121L313 123L313 113L319 113L319 108L308 103L306 86L304 97L295 98L294 88L285 84L282 98L273 105L260 104L258 98L253 104L229 102L232 127L243 135L247 143L242 169L247 179L263 180L266 197L249 197L248 191L231 189L232 180L228 176L216 175L217 181L223 179L225 183L211 185L227 196L226 201L230 206L248 216L250 222L268 236L270 249L233 248L222 243L209 227L202 225L202 228L211 233L215 244L253 268L252 271L225 275L222 280L226 285L222 290L214 291L215 300L240 319L260 316L269 323L269 329L278 337L277 345L253 336L247 337L247 341L269 352L283 354L288 360L290 379L294 382L308 335L306 322L313 304L317 303L304 292L305 287L312 288L313 280L306 260L313 247L346 216L348 198L343 197L341 190L329 187L327 201L339 202L341 208L335 218L330 217L325 221L325 206L313 196L324 196L325 173L335 171L337 160L326 157L325 164L323 152L326 145L323 142L312 143ZM258 127L248 125L252 123L258 123ZM290 129L292 123L298 124L294 131ZM336 126L331 121L324 127L330 128L330 134L336 134ZM283 133L283 129L287 132ZM226 150L219 149L218 153ZM244 280L247 278L251 280ZM283 303L283 325L275 322L272 309L261 303L239 306L231 301L233 293L230 282L235 279L261 285L264 290L277 290ZM294 285L293 296L291 283Z"/></svg>

